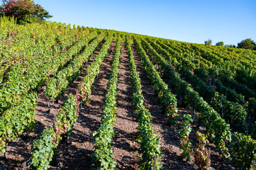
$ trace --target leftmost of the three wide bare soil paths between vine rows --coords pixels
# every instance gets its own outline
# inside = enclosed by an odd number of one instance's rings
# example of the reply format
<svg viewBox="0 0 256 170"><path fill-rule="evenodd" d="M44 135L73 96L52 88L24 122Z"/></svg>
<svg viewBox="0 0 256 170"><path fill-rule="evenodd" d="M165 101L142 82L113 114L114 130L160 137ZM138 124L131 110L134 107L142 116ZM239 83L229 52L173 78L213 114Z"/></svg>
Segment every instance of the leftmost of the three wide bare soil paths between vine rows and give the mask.
<svg viewBox="0 0 256 170"><path fill-rule="evenodd" d="M72 128L72 135L70 135L67 142L60 144L60 155L53 162L52 169L90 169L91 153L94 147L92 132L99 129L100 126L104 109L104 96L107 91L106 86L115 48L116 42L112 41L108 49L108 55L100 67L99 75L94 81L94 89L89 97L90 102L87 106L83 105L80 108L77 123L74 123ZM92 62L93 60L89 60L89 64ZM82 81L82 77L80 81Z"/></svg>

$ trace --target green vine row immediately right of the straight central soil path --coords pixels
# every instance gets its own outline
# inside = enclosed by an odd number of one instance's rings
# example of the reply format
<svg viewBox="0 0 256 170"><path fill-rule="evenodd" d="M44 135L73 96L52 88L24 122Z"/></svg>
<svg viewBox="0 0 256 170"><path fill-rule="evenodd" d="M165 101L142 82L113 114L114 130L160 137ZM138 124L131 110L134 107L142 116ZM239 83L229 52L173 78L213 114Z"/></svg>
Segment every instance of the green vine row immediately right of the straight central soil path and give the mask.
<svg viewBox="0 0 256 170"><path fill-rule="evenodd" d="M140 157L140 169L152 169L155 161L155 169L160 169L161 164L159 162L162 157L160 151L160 140L157 139L157 135L152 130L150 121L152 120L151 114L143 104L143 94L141 90L140 77L136 72L136 64L134 62L133 52L130 47L130 38L126 39L126 48L128 52L130 77L133 92L133 106L135 106L135 112L137 113L136 120L139 123L138 126L138 141L140 142L139 153Z"/></svg>

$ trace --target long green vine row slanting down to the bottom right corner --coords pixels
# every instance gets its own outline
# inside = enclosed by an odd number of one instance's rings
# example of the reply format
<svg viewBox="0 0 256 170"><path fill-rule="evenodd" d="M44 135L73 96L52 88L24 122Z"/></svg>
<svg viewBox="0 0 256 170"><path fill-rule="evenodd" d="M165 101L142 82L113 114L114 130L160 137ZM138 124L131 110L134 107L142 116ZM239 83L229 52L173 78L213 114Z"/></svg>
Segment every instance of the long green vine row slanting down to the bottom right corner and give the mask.
<svg viewBox="0 0 256 170"><path fill-rule="evenodd" d="M177 91L177 93L182 94L182 96L186 98L186 103L202 113L201 119L206 126L208 138L221 150L221 155L224 157L230 156L228 148L226 147L226 142L231 142L232 136L233 145L230 145L230 148L232 149L231 157L233 158L233 164L236 167L238 167L237 165L242 164L244 169L246 167L252 167L256 161L255 140L252 140L250 136L238 134L237 132L232 134L229 129L230 125L227 124L203 98L199 97L199 94L191 89L186 81L179 78L179 75L174 72L174 69L162 58L162 56L158 55L157 52L154 52L154 55L151 56L162 69L164 76L170 80L172 89ZM244 164L244 162L247 162L247 164Z"/></svg>

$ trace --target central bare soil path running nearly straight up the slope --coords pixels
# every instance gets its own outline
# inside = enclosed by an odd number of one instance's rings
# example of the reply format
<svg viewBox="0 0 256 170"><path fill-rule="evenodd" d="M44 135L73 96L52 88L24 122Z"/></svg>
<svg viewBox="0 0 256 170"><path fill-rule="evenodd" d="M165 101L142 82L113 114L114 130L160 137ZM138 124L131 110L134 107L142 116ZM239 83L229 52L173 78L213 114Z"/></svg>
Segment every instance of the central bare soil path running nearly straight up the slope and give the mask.
<svg viewBox="0 0 256 170"><path fill-rule="evenodd" d="M137 169L138 142L135 113L131 105L132 91L128 54L125 43L121 43L121 57L118 72L118 86L116 95L116 123L113 138L113 159L117 162L116 169Z"/></svg>

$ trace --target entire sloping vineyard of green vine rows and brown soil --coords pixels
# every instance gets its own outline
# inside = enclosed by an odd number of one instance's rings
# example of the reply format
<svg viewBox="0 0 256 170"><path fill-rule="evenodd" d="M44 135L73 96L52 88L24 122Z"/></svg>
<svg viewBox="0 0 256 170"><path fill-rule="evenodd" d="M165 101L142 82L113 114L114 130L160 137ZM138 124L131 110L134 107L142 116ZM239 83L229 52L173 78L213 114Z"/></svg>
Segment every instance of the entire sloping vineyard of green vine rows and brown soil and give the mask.
<svg viewBox="0 0 256 170"><path fill-rule="evenodd" d="M256 52L0 18L0 169L256 169Z"/></svg>

